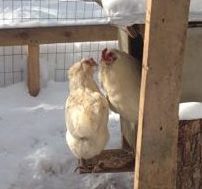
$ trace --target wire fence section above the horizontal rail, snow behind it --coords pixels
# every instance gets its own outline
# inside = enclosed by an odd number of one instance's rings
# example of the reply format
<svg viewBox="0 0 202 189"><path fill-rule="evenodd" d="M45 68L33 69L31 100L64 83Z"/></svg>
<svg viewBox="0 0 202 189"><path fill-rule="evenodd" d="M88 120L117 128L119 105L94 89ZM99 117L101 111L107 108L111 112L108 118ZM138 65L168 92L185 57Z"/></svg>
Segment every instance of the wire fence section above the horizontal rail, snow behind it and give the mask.
<svg viewBox="0 0 202 189"><path fill-rule="evenodd" d="M95 2L79 0L0 0L0 26L106 22Z"/></svg>

